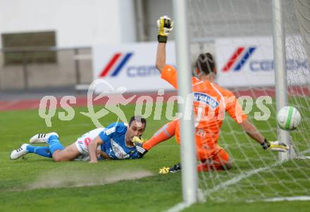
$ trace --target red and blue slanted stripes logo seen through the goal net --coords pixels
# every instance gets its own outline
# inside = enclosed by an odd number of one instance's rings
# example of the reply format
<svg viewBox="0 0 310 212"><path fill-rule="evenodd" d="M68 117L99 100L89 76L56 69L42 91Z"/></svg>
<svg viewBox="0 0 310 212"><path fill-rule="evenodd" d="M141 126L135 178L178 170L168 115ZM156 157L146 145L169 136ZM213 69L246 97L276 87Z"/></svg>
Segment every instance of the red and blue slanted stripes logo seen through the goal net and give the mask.
<svg viewBox="0 0 310 212"><path fill-rule="evenodd" d="M250 56L254 53L256 46L244 47L240 46L230 57L229 61L222 68L223 72L230 70L240 71Z"/></svg>

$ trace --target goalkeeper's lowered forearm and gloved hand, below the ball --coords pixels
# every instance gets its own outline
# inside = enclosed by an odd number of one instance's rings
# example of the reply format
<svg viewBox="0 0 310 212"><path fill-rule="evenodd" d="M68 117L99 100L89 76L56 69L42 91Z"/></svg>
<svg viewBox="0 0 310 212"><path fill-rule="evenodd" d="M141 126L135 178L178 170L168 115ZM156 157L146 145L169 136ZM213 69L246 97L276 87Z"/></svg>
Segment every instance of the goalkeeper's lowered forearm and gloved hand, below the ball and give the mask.
<svg viewBox="0 0 310 212"><path fill-rule="evenodd" d="M240 125L242 126L243 130L247 132L247 135L249 135L249 137L252 137L252 139L261 144L263 149L283 152L290 149L290 147L287 146L287 144L285 144L284 142L269 142L265 137L263 137L263 135L261 135L259 130L257 130L257 128L249 122L249 120L244 120Z"/></svg>

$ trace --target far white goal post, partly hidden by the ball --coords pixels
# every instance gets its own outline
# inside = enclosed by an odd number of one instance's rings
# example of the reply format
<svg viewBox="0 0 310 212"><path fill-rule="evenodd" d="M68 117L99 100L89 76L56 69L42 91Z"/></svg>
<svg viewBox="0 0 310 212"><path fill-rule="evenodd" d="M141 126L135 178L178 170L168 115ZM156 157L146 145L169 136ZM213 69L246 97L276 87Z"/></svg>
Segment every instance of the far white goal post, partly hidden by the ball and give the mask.
<svg viewBox="0 0 310 212"><path fill-rule="evenodd" d="M285 35L283 27L282 0L272 1L273 13L273 56L275 67L275 101L277 111L287 106L287 77L285 57ZM295 157L294 148L290 144L290 135L278 127L278 140L290 145L290 151L279 153L280 161L287 161Z"/></svg>

